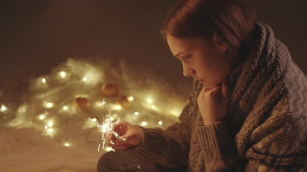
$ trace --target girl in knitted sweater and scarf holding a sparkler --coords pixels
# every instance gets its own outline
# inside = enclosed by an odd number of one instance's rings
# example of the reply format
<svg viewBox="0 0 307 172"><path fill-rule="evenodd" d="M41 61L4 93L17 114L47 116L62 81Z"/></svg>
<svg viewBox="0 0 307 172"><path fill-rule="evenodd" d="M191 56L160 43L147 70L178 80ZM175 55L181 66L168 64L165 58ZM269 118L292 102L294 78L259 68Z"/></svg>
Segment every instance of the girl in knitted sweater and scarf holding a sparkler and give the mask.
<svg viewBox="0 0 307 172"><path fill-rule="evenodd" d="M270 26L239 0L182 0L161 33L194 78L181 122L117 124L98 171L306 169L307 78Z"/></svg>

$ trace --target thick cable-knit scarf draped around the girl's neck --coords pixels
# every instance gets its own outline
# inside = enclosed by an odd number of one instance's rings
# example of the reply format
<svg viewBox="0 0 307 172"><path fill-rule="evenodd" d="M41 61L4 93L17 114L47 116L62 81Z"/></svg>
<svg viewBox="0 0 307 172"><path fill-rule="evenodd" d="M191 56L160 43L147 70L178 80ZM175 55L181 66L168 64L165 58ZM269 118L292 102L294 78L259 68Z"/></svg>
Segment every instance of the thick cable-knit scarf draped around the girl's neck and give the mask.
<svg viewBox="0 0 307 172"><path fill-rule="evenodd" d="M270 26L257 23L253 37L252 51L228 76L231 94L226 119L241 158L248 146L256 142L250 138L251 132L265 121L285 91L279 80L291 58ZM198 93L202 89L196 82L194 87Z"/></svg>

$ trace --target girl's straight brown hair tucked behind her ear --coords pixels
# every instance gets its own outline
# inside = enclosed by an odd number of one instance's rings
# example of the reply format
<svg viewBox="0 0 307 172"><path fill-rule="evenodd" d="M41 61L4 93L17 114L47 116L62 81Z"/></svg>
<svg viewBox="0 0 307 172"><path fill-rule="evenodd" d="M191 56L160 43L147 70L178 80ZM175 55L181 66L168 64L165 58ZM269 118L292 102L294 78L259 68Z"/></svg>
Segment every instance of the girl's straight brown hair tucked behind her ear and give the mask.
<svg viewBox="0 0 307 172"><path fill-rule="evenodd" d="M166 16L161 34L177 38L210 38L214 33L228 48L248 46L254 11L240 0L181 0ZM243 45L242 45L243 44Z"/></svg>

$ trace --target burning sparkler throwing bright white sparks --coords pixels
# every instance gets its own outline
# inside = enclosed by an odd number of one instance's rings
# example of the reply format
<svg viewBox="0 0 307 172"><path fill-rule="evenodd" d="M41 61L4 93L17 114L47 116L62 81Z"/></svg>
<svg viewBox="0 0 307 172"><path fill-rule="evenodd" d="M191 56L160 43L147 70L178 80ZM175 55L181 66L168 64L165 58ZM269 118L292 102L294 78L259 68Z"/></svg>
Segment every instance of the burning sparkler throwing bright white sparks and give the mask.
<svg viewBox="0 0 307 172"><path fill-rule="evenodd" d="M122 138L117 132L113 131L112 128L113 128L113 125L116 124L116 123L119 123L121 120L120 118L117 119L116 122L113 122L113 120L110 120L108 118L108 114L107 114L107 118L103 118L103 121L101 122L98 117L95 117L97 119L97 121L99 122L99 124L97 125L97 128L102 132L102 144L103 144L103 149L105 149L105 145L106 145L106 139L105 139L105 134L113 134L114 137L116 139L123 139L124 141L126 141L125 138ZM111 144L115 144L113 141L111 141ZM100 148L100 144L98 145L98 151L99 151L99 148ZM110 149L112 151L115 152L115 150L112 148L112 146L110 146Z"/></svg>

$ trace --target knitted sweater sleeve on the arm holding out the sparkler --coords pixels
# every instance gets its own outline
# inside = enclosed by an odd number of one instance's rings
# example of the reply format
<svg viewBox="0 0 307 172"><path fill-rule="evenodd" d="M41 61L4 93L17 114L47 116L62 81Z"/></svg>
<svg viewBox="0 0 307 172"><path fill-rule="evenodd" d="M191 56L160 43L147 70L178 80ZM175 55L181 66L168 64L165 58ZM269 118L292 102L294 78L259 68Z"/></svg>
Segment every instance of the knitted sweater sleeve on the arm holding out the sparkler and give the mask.
<svg viewBox="0 0 307 172"><path fill-rule="evenodd" d="M189 116L194 94L192 92L183 108L179 116L180 122L169 126L166 130L138 126L142 131L142 143L122 151L140 164L158 163L171 168L186 165L190 147Z"/></svg>

